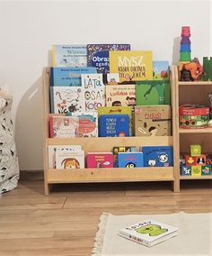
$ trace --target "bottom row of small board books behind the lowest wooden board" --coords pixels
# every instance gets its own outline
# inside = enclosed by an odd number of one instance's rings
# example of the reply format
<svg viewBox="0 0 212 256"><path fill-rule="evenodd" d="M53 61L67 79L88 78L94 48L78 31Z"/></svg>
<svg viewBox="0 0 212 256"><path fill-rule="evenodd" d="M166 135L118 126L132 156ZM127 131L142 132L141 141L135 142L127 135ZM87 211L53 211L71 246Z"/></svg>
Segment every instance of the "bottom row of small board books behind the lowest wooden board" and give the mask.
<svg viewBox="0 0 212 256"><path fill-rule="evenodd" d="M112 152L87 152L80 145L49 145L49 169L170 167L171 146L114 147Z"/></svg>

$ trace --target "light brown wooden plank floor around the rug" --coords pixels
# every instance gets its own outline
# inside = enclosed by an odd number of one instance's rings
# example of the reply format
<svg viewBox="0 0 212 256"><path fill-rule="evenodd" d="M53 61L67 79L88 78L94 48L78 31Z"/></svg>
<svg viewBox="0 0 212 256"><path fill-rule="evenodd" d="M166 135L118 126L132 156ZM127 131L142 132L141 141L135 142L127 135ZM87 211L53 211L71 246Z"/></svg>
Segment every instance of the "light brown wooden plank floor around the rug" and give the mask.
<svg viewBox="0 0 212 256"><path fill-rule="evenodd" d="M182 181L181 181L182 182ZM55 185L22 171L19 187L0 198L0 255L91 255L102 212L114 215L212 212L212 181Z"/></svg>

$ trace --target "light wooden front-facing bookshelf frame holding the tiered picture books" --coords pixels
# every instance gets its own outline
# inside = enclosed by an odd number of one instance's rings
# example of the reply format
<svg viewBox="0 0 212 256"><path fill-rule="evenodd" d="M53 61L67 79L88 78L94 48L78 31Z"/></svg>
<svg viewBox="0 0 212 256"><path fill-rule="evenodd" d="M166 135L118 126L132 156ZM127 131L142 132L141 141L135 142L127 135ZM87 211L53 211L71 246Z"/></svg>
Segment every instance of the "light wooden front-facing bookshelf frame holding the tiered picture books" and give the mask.
<svg viewBox="0 0 212 256"><path fill-rule="evenodd" d="M172 97L172 136L157 137L96 137L96 138L49 138L49 68L43 69L43 96L44 96L44 179L45 194L49 195L53 184L61 183L93 183L93 182L130 182L130 181L172 181L173 191L179 191L179 181L176 169L176 158L173 153L173 167L155 168L111 168L111 169L49 169L49 145L81 145L86 154L89 151L111 151L113 146L172 146L175 151L175 92L171 89ZM174 82L171 74L171 88Z"/></svg>

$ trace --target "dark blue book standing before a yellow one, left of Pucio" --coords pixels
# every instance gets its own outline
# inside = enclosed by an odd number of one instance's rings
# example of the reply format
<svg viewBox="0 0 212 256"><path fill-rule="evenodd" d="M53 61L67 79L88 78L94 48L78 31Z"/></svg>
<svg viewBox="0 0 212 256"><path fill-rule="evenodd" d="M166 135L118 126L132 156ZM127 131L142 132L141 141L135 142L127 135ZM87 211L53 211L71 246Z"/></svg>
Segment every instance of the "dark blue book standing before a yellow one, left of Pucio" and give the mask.
<svg viewBox="0 0 212 256"><path fill-rule="evenodd" d="M100 137L129 136L128 114L102 114L99 117Z"/></svg>

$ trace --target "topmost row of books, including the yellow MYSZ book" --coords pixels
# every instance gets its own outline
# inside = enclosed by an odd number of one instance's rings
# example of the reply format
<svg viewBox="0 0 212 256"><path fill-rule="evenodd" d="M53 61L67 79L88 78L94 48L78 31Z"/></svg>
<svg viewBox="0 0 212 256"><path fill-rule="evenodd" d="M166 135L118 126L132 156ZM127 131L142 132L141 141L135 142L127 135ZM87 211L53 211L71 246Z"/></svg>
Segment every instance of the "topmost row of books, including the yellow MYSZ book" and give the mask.
<svg viewBox="0 0 212 256"><path fill-rule="evenodd" d="M119 73L121 82L153 79L152 50L131 50L125 43L53 45L52 59L53 67L93 67L98 73ZM166 69L161 71L154 73L165 78Z"/></svg>

